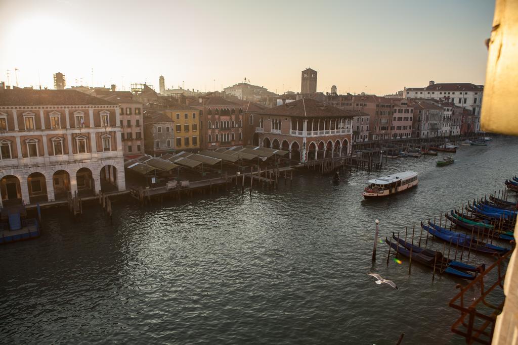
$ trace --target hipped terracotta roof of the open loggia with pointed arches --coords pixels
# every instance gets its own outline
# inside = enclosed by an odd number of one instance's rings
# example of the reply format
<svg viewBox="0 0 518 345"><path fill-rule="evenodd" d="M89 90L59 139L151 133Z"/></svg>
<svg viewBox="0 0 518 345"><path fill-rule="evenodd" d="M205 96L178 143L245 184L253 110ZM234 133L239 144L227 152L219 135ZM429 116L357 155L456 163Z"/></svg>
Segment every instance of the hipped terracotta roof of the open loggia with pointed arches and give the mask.
<svg viewBox="0 0 518 345"><path fill-rule="evenodd" d="M354 117L362 115L359 111L342 110L311 98L303 98L274 108L257 112L265 115L292 117Z"/></svg>

